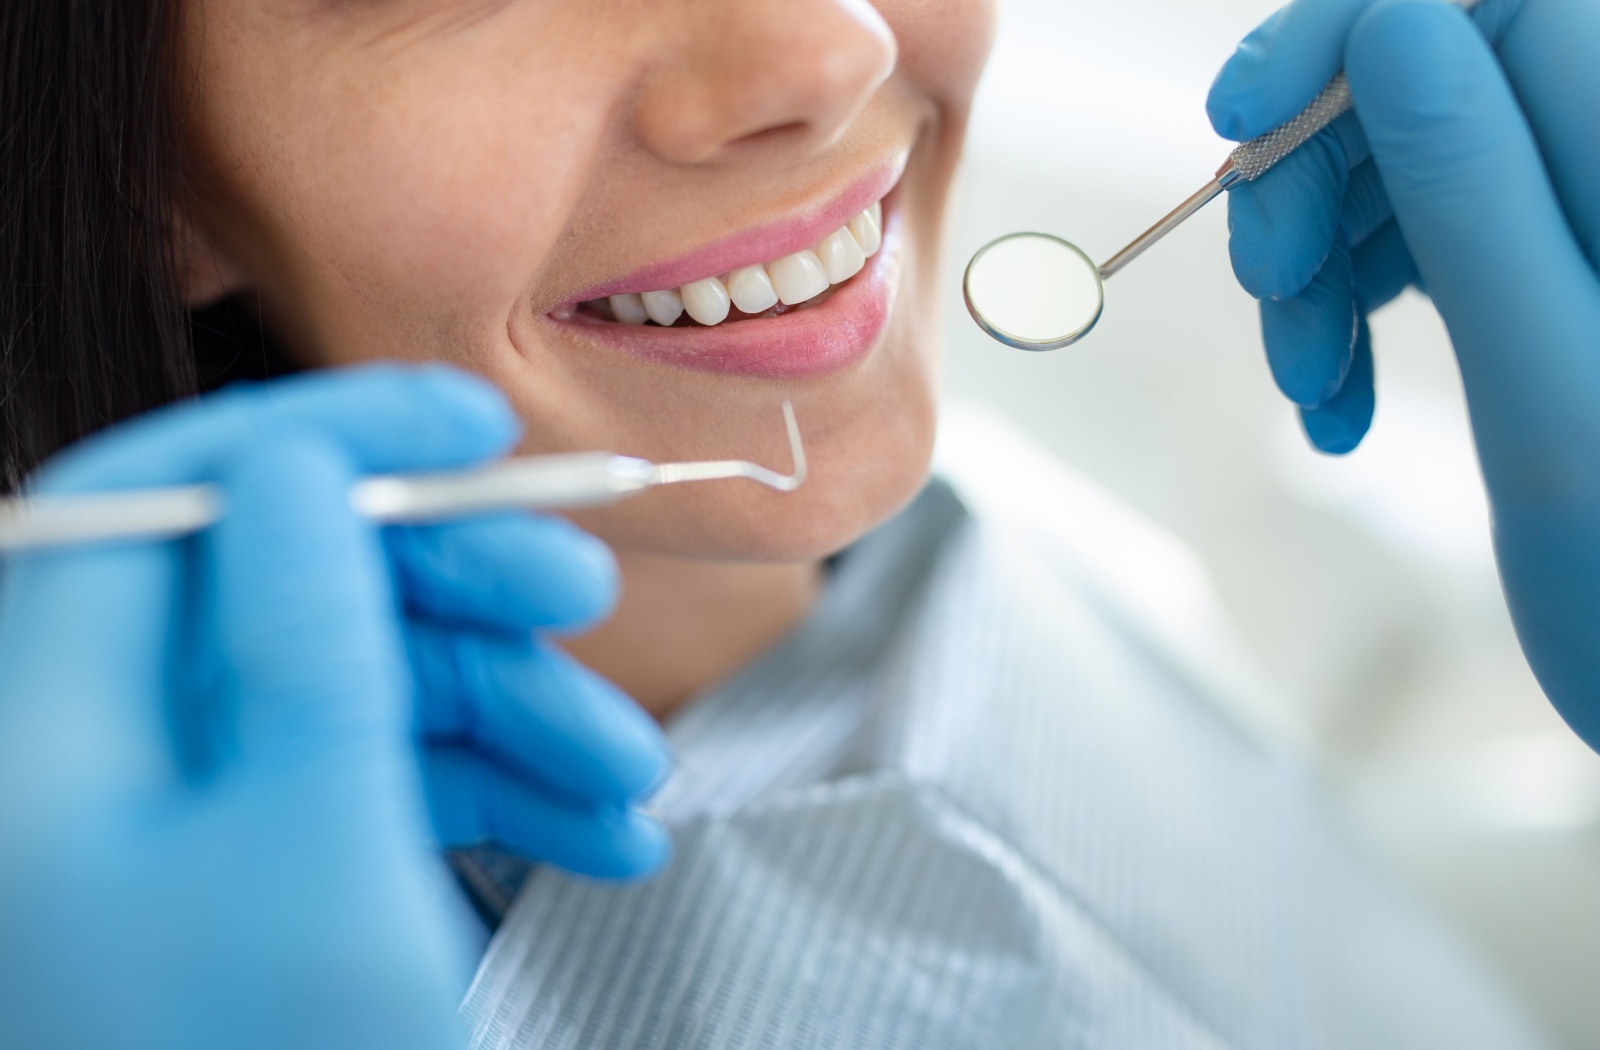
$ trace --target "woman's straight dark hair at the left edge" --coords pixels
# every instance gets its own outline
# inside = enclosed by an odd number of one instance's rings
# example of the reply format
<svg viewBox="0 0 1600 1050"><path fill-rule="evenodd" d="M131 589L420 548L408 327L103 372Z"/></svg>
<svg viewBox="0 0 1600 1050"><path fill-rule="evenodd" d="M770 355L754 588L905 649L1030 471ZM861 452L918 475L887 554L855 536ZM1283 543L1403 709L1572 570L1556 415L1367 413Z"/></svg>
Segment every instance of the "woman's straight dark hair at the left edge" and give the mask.
<svg viewBox="0 0 1600 1050"><path fill-rule="evenodd" d="M178 0L0 0L0 491L240 359L282 370L253 311L190 317L179 295L178 19Z"/></svg>

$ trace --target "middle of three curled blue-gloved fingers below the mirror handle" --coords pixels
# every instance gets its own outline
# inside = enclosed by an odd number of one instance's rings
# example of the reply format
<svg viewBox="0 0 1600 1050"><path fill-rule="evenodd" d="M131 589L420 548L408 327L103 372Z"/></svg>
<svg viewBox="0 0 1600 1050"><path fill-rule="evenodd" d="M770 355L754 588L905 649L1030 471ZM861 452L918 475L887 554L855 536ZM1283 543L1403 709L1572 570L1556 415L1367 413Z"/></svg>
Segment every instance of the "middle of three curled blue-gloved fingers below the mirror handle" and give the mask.
<svg viewBox="0 0 1600 1050"><path fill-rule="evenodd" d="M1339 392L1355 357L1355 283L1342 238L1298 296L1261 304L1261 335L1278 389L1315 408Z"/></svg>

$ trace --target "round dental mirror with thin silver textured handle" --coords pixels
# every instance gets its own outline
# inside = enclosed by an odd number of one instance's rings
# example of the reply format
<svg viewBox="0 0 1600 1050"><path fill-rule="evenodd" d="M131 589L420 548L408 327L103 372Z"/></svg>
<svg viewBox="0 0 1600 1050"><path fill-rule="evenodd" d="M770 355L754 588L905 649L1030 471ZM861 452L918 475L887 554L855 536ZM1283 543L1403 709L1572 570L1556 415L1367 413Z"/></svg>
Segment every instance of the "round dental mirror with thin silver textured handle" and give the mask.
<svg viewBox="0 0 1600 1050"><path fill-rule="evenodd" d="M1470 11L1482 0L1453 0ZM1131 245L1096 266L1072 242L1051 234L1006 234L984 245L966 267L966 311L990 338L1019 351L1059 351L1080 341L1106 309L1106 280L1240 182L1253 182L1314 134L1350 110L1341 72L1288 123L1238 146L1200 192L1178 205Z"/></svg>

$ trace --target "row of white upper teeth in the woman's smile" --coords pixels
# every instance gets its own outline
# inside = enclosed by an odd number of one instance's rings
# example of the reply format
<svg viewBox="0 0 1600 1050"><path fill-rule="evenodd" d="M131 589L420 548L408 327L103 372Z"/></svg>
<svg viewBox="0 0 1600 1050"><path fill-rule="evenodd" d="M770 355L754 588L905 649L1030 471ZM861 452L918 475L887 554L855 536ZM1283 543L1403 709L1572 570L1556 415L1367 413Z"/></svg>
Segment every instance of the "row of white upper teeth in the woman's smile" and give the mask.
<svg viewBox="0 0 1600 1050"><path fill-rule="evenodd" d="M765 314L779 303L797 306L814 299L830 285L850 280L883 246L883 205L872 205L846 226L824 237L814 248L774 259L766 266L744 266L726 277L706 277L682 288L611 296L611 315L624 325L672 325L688 314L702 325L728 320L731 307L744 314Z"/></svg>

